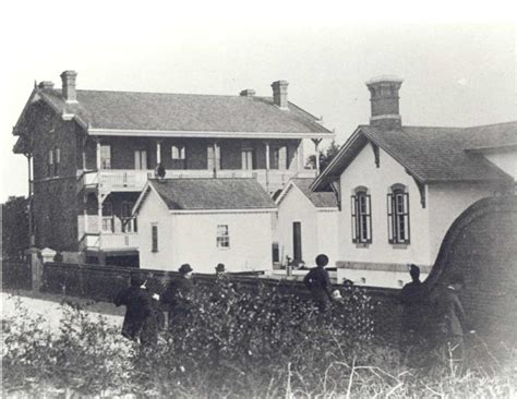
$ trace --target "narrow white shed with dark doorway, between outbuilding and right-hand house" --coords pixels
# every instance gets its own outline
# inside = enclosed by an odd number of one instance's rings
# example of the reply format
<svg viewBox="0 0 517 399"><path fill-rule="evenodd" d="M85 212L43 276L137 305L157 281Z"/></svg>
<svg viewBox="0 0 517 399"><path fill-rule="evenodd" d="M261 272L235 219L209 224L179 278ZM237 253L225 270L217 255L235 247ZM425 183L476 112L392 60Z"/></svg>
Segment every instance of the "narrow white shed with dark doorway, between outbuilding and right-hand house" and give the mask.
<svg viewBox="0 0 517 399"><path fill-rule="evenodd" d="M337 259L337 201L332 191L314 192L314 179L291 179L276 198L278 243L282 258L313 266L324 253Z"/></svg>

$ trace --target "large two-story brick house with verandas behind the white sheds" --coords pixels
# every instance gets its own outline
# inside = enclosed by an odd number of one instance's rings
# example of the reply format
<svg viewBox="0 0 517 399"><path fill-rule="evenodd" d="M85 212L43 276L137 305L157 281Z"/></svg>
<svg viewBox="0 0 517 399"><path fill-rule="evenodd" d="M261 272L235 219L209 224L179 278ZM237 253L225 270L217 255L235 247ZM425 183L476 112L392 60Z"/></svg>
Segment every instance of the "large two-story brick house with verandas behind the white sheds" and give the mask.
<svg viewBox="0 0 517 399"><path fill-rule="evenodd" d="M76 73L34 87L13 134L27 156L35 245L81 251L88 262L134 264L131 210L148 178L253 178L268 192L304 169L303 141L334 134L288 101L272 97L80 90ZM160 168L158 168L160 167Z"/></svg>

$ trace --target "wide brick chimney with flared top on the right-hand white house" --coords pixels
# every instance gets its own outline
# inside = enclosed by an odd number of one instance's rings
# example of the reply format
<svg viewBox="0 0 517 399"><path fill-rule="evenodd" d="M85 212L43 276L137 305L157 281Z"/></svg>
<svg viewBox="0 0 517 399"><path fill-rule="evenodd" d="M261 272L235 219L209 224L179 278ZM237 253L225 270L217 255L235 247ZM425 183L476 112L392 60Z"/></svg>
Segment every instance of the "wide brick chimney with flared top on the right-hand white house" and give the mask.
<svg viewBox="0 0 517 399"><path fill-rule="evenodd" d="M402 80L397 76L377 76L366 82L370 90L372 116L370 125L385 130L399 130L402 126L398 109L398 90Z"/></svg>

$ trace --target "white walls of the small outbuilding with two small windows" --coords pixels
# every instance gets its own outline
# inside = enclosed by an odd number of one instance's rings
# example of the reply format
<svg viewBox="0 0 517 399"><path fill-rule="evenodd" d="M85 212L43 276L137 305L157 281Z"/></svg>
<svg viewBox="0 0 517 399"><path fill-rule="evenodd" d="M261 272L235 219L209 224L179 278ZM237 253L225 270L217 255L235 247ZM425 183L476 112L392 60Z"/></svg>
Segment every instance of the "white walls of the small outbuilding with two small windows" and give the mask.
<svg viewBox="0 0 517 399"><path fill-rule="evenodd" d="M158 252L153 253L151 226L158 222ZM228 225L229 249L217 247L217 225ZM140 265L143 269L194 273L268 270L272 261L272 213L171 214L151 191L139 211Z"/></svg>

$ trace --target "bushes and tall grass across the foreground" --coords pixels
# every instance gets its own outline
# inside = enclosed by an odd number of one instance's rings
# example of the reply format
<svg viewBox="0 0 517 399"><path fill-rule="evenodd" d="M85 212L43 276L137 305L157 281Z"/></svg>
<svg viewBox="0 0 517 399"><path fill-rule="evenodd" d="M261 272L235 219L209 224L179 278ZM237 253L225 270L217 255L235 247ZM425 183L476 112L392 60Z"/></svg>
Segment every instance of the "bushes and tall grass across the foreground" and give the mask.
<svg viewBox="0 0 517 399"><path fill-rule="evenodd" d="M3 323L3 396L62 397L512 397L515 351L496 359L472 346L466 364L430 356L409 367L384 342L375 304L360 289L344 292L322 316L292 295L227 281L197 292L191 316L142 348L106 319L63 303L60 332L41 328L19 306ZM481 341L480 341L481 342ZM480 361L479 359L482 359ZM513 368L514 366L514 368Z"/></svg>

